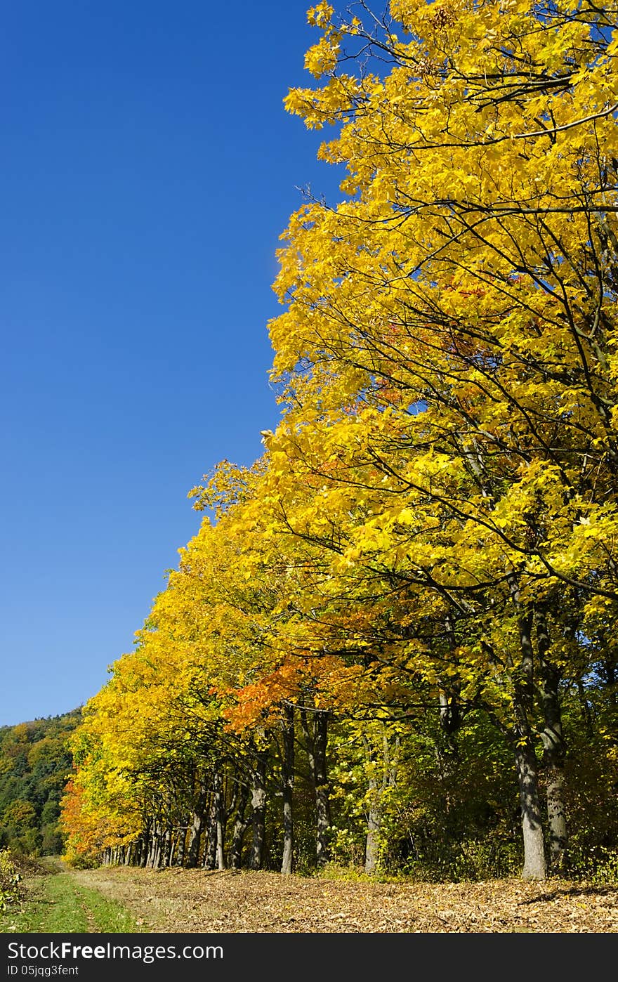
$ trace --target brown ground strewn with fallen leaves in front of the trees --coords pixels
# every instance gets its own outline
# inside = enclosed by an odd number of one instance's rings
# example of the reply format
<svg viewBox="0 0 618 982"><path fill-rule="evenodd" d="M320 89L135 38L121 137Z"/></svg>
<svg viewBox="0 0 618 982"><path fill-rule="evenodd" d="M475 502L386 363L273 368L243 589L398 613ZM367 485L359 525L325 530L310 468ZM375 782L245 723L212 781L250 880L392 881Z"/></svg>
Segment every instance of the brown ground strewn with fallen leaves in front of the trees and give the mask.
<svg viewBox="0 0 618 982"><path fill-rule="evenodd" d="M618 887L526 883L366 883L263 872L75 871L154 933L618 932Z"/></svg>

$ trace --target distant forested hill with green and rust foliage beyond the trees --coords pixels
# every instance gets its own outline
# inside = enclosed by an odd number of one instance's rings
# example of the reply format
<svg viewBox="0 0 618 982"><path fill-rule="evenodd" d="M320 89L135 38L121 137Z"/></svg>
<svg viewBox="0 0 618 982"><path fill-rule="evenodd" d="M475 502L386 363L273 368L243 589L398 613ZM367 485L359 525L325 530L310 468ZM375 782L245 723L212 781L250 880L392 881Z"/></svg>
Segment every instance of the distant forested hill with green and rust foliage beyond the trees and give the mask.
<svg viewBox="0 0 618 982"><path fill-rule="evenodd" d="M60 798L72 767L67 739L81 718L82 710L74 709L0 727L0 848L62 851Z"/></svg>

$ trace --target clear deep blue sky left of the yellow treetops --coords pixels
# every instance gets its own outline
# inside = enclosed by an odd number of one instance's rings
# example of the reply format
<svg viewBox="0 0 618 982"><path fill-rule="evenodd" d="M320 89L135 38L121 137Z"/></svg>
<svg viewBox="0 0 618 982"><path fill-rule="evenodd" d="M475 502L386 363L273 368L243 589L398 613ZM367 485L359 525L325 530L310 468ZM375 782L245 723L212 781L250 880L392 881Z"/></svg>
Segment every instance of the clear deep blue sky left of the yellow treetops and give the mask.
<svg viewBox="0 0 618 982"><path fill-rule="evenodd" d="M283 109L305 0L25 0L0 58L0 725L94 695L200 516L259 457L275 249L332 197Z"/></svg>

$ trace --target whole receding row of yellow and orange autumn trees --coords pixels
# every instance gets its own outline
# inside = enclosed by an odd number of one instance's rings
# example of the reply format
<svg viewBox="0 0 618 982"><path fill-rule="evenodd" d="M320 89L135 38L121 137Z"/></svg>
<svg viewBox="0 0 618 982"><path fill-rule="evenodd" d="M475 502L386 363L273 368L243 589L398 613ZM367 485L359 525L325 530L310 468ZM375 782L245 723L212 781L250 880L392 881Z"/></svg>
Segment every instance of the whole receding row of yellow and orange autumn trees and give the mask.
<svg viewBox="0 0 618 982"><path fill-rule="evenodd" d="M353 8L286 99L346 177L279 251L281 422L192 492L70 849L542 879L616 846L615 26Z"/></svg>

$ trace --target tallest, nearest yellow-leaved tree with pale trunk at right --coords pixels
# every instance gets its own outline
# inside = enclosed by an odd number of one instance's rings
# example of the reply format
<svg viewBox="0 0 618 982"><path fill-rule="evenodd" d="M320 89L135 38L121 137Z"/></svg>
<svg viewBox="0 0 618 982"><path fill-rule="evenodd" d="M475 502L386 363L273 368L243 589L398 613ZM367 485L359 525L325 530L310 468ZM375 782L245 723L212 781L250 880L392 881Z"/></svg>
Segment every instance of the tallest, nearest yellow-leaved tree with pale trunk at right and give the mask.
<svg viewBox="0 0 618 982"><path fill-rule="evenodd" d="M336 127L319 155L348 173L343 200L309 200L279 253L288 310L270 333L285 418L270 449L315 472L317 430L330 452L317 469L341 481L328 464L354 426L390 513L446 528L451 568L470 573L449 582L427 543L427 585L465 588L460 607L474 595L485 620L492 591L510 605L523 874L542 878L539 707L556 863L565 846L564 626L551 636L544 610L571 587L582 637L617 599L616 42L587 2L394 0L387 18L355 14L309 10L320 39L306 67L323 83L286 100L309 128Z"/></svg>

